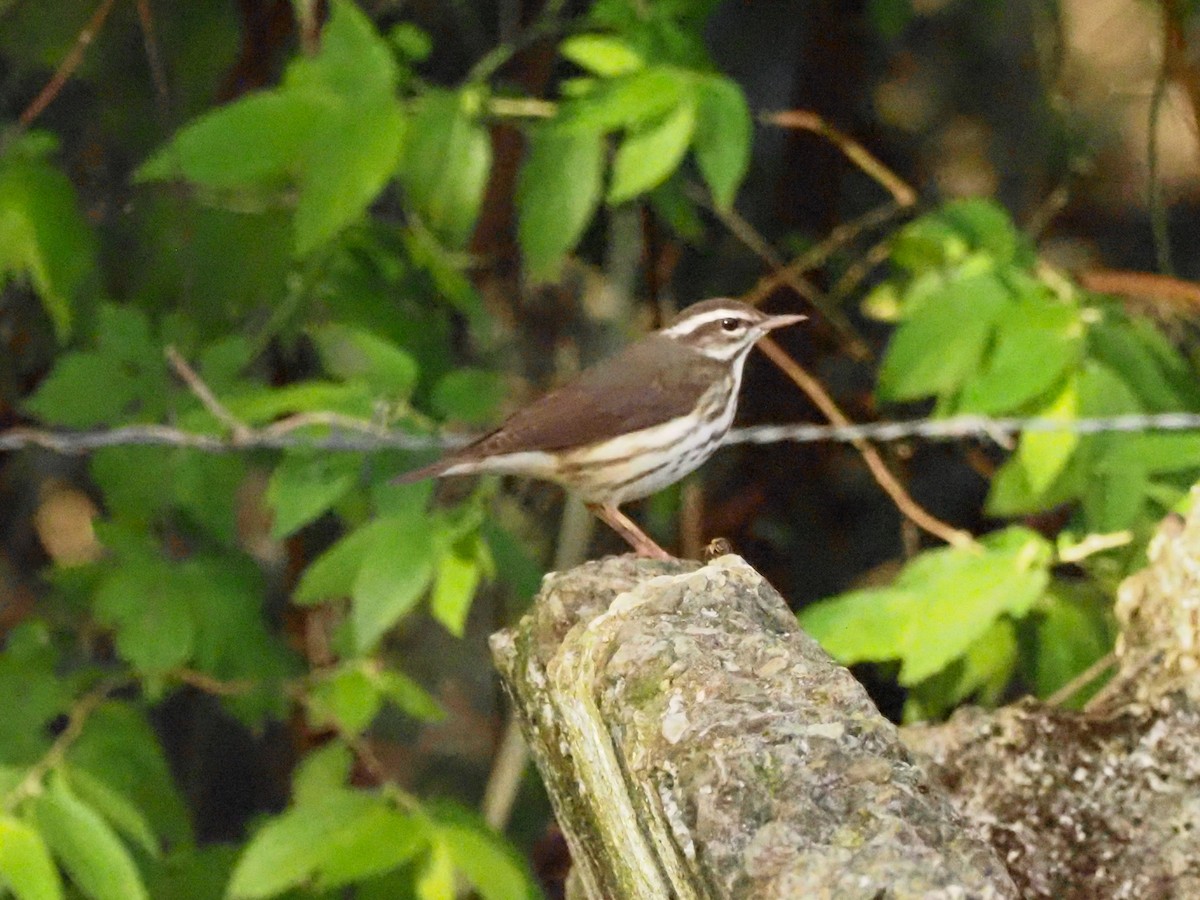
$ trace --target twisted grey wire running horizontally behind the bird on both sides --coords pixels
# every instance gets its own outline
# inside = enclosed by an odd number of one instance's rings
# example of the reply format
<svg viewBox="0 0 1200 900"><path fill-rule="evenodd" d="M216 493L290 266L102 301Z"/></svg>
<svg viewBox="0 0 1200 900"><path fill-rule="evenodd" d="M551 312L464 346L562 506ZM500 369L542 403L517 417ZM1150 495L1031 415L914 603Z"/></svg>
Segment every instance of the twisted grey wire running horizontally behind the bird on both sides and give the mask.
<svg viewBox="0 0 1200 900"><path fill-rule="evenodd" d="M379 450L451 450L478 437L476 434L440 433L416 434L385 428L367 420L355 421L337 416L336 425L326 425L328 433L316 434L312 422L289 424L286 428L268 426L247 428L222 437L185 431L168 425L126 425L91 431L58 431L44 428L10 428L0 432L0 452L41 448L59 454L85 454L112 446L175 446L210 454L245 452L251 450L328 450L335 452ZM1177 432L1200 431L1200 413L1130 413L1091 419L1001 418L959 415L950 419L913 419L907 421L870 422L864 425L754 425L732 430L726 444L775 444L792 442L853 443L871 440L965 440L983 439L1002 446L1021 432L1064 432L1100 434L1114 432Z"/></svg>

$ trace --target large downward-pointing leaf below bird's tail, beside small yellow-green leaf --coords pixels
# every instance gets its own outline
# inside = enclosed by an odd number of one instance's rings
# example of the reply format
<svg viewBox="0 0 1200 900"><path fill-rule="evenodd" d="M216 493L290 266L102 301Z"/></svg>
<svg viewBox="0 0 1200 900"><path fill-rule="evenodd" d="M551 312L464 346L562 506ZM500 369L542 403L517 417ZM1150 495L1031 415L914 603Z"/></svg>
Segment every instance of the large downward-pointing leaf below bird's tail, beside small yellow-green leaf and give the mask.
<svg viewBox="0 0 1200 900"><path fill-rule="evenodd" d="M416 605L433 577L434 545L427 522L388 517L373 524L350 611L355 644L362 652Z"/></svg>

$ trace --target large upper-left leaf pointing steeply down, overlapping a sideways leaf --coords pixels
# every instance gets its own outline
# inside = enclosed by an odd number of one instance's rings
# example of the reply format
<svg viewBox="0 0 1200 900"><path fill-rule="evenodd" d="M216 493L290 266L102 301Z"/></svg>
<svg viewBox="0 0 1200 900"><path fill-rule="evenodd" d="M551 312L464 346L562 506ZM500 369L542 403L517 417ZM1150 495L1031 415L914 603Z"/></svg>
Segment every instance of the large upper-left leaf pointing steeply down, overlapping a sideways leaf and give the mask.
<svg viewBox="0 0 1200 900"><path fill-rule="evenodd" d="M404 134L394 100L349 106L320 121L300 174L296 253L319 247L364 214L395 174Z"/></svg>

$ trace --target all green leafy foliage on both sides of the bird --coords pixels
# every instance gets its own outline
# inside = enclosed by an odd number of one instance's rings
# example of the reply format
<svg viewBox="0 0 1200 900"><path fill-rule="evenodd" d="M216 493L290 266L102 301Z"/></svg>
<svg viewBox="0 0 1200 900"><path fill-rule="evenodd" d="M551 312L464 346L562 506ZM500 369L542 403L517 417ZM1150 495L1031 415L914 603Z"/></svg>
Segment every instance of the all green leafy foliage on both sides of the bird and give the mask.
<svg viewBox="0 0 1200 900"><path fill-rule="evenodd" d="M90 13L54 6L70 14L0 4L11 83L44 83L68 58ZM115 5L130 28L134 6ZM478 288L493 187L514 176L514 263L536 284L635 203L691 239L697 188L725 215L749 169L754 120L704 47L709 0L595 0L572 19L547 4L529 28L553 55L536 96L503 72L527 47L448 74L431 35L382 29L354 0L332 0L312 46L288 43L244 90L229 80L239 5L152 6L162 28L133 43L161 37L170 103L151 107L156 85L131 74L132 44L109 23L86 31L79 96L56 100L83 107L67 107L70 127L13 126L0 143L0 289L36 300L12 346L28 331L50 348L36 372L0 379L20 385L30 422L233 437L486 426L509 386L494 298ZM377 6L380 22L409 12ZM866 13L888 38L916 14L907 0ZM493 155L511 130L523 152L506 173ZM112 196L92 184L94 154ZM866 301L896 323L882 401L1067 421L1198 408L1176 348L1040 264L994 204L908 223L890 263ZM911 718L997 702L1014 682L1049 694L1110 646L1105 592L1195 478L1196 440L1028 432L990 485L989 514L1012 521L803 622L844 661L894 670ZM19 702L0 716L0 893L536 895L502 838L402 788L372 752L385 728L462 713L400 659L397 635L432 622L460 637L482 586L523 599L541 571L517 529L485 516L494 485L434 504L428 484L390 484L419 456L118 444L80 463L96 552L53 559L36 604L5 619L0 695ZM1070 522L1055 539L1031 527L1060 508ZM1123 530L1118 552L1064 564ZM223 730L284 733L298 756L280 763L286 802L259 803L240 836L198 835L193 786L160 737L198 694Z"/></svg>

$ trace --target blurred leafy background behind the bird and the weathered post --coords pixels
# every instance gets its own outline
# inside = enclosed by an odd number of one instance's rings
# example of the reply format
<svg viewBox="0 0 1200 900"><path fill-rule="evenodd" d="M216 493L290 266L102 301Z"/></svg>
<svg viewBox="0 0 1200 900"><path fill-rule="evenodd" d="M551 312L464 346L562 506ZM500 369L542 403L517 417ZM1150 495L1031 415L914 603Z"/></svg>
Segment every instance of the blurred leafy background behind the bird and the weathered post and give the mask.
<svg viewBox="0 0 1200 900"><path fill-rule="evenodd" d="M553 895L486 637L622 548L389 478L712 295L743 424L1200 412L1195 13L0 0L0 894ZM1103 690L1195 432L860 450L636 514L898 721Z"/></svg>

